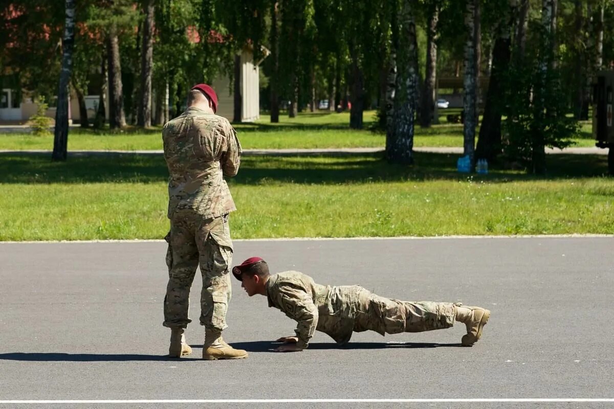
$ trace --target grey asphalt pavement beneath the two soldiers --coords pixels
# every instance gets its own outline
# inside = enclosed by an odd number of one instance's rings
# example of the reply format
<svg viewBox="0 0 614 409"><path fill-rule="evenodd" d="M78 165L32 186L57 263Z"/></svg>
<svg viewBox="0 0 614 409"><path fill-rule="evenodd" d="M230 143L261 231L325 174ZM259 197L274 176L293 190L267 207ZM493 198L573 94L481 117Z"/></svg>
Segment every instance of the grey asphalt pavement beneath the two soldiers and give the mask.
<svg viewBox="0 0 614 409"><path fill-rule="evenodd" d="M319 283L360 284L403 300L492 311L483 338L464 328L355 334L336 348L271 352L294 325L233 282L228 342L238 361L201 361L192 292L188 342L169 359L161 326L163 242L0 243L0 407L605 408L614 403L6 403L108 399L614 399L614 237L365 239L235 242L235 264L260 255L271 269ZM4 402L4 404L2 403Z"/></svg>

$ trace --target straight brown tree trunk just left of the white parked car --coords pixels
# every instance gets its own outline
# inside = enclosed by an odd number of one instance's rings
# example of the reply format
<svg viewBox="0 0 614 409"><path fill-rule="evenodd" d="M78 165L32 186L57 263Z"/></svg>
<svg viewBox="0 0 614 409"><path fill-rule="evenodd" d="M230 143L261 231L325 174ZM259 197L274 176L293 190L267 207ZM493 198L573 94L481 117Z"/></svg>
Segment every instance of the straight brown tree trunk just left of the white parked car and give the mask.
<svg viewBox="0 0 614 409"><path fill-rule="evenodd" d="M422 115L420 125L429 128L435 113L435 80L437 78L437 23L439 21L439 4L432 1L427 23L426 71L424 90L422 91Z"/></svg>

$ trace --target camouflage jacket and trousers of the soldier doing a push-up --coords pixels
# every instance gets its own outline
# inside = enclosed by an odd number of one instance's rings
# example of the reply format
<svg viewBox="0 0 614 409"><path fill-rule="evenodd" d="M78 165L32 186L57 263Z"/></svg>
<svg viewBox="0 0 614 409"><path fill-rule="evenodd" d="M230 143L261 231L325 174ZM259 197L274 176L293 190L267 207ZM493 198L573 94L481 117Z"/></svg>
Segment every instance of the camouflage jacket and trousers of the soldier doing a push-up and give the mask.
<svg viewBox="0 0 614 409"><path fill-rule="evenodd" d="M460 305L391 300L361 286L323 286L297 271L271 275L266 297L269 307L297 321L300 348L307 348L316 330L344 345L352 332L370 330L384 335L449 328L456 316L454 306Z"/></svg>

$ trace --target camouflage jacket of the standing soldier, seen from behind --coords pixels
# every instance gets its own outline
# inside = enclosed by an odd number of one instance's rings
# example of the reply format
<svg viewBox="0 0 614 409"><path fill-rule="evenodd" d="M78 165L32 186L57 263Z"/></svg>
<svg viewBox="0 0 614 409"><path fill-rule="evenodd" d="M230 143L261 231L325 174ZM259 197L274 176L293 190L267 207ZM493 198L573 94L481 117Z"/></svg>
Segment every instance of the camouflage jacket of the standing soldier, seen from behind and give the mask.
<svg viewBox="0 0 614 409"><path fill-rule="evenodd" d="M241 144L228 120L188 108L162 131L168 166L168 217L190 210L203 218L236 210L223 176L239 170Z"/></svg>

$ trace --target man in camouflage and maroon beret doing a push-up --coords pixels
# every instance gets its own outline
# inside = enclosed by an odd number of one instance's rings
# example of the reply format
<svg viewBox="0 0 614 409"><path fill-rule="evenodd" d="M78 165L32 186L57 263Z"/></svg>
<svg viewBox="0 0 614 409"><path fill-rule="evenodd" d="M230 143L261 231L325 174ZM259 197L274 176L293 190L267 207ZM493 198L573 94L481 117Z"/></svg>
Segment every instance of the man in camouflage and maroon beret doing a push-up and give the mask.
<svg viewBox="0 0 614 409"><path fill-rule="evenodd" d="M352 332L376 331L379 334L422 332L449 328L454 321L464 323L464 346L472 346L482 335L491 315L480 307L465 307L451 302L409 302L379 297L361 286L323 286L298 271L270 275L268 265L259 257L247 259L232 270L242 281L247 295L266 296L275 307L297 321L295 335L282 337L275 351L302 351L314 332L330 335L339 345L349 342Z"/></svg>

